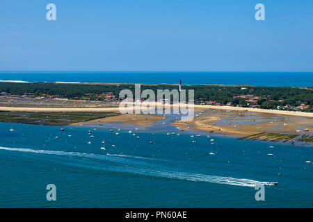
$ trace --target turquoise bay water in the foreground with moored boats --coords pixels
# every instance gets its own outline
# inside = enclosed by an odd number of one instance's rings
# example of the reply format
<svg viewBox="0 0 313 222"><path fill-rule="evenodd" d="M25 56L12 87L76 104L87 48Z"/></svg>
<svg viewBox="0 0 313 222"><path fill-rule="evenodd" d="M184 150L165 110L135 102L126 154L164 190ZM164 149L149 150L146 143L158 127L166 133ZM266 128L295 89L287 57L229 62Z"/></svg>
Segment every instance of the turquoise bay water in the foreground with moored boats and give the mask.
<svg viewBox="0 0 313 222"><path fill-rule="evenodd" d="M0 123L0 207L313 207L310 146L214 135L212 145L160 122L119 135L64 128ZM255 200L259 182L265 201ZM56 201L46 200L48 184Z"/></svg>

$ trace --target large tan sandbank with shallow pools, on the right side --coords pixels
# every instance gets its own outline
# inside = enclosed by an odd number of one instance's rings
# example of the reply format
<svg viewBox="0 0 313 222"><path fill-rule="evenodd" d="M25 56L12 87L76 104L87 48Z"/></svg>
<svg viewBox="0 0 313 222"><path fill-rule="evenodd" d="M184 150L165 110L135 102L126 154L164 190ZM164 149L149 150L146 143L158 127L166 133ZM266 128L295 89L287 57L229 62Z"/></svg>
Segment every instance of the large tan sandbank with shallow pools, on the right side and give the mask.
<svg viewBox="0 0 313 222"><path fill-rule="evenodd" d="M238 111L230 109L202 110L191 121L176 121L173 126L185 130L202 130L235 137L257 133L310 135L313 118L286 114ZM308 131L305 131L307 129Z"/></svg>

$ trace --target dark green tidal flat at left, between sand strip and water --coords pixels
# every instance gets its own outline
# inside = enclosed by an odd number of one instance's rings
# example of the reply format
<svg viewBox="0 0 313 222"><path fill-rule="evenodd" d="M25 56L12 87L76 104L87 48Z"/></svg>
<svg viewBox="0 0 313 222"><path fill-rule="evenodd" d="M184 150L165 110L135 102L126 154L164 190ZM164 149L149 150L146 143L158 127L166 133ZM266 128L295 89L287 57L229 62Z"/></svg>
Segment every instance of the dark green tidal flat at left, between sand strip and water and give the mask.
<svg viewBox="0 0 313 222"><path fill-rule="evenodd" d="M117 112L0 112L0 121L35 125L65 126L118 115Z"/></svg>

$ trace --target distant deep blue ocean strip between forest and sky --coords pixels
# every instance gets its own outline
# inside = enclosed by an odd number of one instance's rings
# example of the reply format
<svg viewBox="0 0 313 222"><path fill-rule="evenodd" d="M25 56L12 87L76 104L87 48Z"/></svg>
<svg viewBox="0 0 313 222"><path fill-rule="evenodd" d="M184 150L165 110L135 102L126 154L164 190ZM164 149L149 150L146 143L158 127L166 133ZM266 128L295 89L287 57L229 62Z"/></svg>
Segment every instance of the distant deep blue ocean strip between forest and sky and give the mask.
<svg viewBox="0 0 313 222"><path fill-rule="evenodd" d="M313 87L313 72L1 71L0 82L144 83Z"/></svg>

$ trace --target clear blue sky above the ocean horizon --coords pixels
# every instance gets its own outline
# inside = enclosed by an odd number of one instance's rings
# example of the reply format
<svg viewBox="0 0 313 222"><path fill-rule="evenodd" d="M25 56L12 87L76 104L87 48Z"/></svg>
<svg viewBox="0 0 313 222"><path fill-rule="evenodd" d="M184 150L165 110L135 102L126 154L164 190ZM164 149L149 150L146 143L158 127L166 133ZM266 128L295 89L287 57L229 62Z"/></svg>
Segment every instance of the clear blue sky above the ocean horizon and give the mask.
<svg viewBox="0 0 313 222"><path fill-rule="evenodd" d="M0 29L0 71L313 71L312 0L2 0Z"/></svg>

